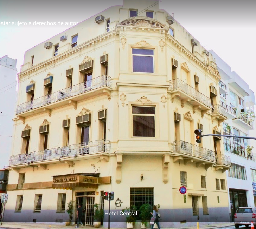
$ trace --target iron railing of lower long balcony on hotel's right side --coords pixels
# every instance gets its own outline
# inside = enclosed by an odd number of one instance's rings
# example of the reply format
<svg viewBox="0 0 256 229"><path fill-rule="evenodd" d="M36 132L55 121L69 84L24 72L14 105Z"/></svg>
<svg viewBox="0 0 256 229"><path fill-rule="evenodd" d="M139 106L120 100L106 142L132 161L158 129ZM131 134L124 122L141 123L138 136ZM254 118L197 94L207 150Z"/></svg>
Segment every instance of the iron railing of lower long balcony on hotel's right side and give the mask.
<svg viewBox="0 0 256 229"><path fill-rule="evenodd" d="M172 142L172 149L174 154L184 153L196 157L200 157L206 160L215 161L215 153L212 150L205 149L203 147L184 142L184 141L176 141Z"/></svg>

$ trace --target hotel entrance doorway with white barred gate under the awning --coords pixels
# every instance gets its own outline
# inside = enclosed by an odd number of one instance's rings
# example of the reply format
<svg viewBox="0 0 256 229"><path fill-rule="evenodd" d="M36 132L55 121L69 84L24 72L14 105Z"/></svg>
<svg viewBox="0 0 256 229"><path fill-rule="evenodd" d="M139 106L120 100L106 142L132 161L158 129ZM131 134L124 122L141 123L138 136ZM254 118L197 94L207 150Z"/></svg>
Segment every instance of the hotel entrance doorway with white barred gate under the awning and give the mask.
<svg viewBox="0 0 256 229"><path fill-rule="evenodd" d="M95 192L81 192L76 193L76 209L78 204L83 208L83 216L81 221L84 225L94 225L94 200ZM76 209L75 209L75 222L76 222Z"/></svg>

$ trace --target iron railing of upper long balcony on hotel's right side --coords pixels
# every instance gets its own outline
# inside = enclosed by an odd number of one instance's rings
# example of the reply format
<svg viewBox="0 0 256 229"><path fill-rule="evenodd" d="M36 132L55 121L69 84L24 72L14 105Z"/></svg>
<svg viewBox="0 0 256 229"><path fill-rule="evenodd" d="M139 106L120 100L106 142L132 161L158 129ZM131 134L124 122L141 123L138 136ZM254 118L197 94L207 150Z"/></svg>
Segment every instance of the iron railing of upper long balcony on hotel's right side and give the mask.
<svg viewBox="0 0 256 229"><path fill-rule="evenodd" d="M171 82L170 90L180 89L181 91L185 92L187 95L190 95L191 97L203 103L204 105L208 107L212 107L210 98L208 98L198 90L194 89L193 87L191 87L190 85L182 81L181 79L171 80L170 82Z"/></svg>

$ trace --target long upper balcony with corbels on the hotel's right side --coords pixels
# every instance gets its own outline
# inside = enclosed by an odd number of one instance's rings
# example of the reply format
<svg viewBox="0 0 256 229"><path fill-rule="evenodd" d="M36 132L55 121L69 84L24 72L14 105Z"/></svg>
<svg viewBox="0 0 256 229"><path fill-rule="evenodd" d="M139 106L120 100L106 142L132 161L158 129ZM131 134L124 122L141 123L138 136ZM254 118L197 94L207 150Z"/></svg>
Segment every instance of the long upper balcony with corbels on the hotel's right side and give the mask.
<svg viewBox="0 0 256 229"><path fill-rule="evenodd" d="M181 79L171 80L171 99L179 98L181 100L181 106L184 103L189 103L193 106L193 110L201 110L201 114L204 115L206 112L211 110L211 100L204 94L200 93L198 90L194 89Z"/></svg>

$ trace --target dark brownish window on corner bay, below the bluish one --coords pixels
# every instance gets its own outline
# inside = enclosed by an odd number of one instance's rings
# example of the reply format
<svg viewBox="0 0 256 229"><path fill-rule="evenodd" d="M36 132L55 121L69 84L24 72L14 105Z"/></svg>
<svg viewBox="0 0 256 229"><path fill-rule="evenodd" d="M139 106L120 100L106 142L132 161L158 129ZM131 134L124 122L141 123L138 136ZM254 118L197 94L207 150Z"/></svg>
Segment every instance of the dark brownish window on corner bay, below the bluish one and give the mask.
<svg viewBox="0 0 256 229"><path fill-rule="evenodd" d="M132 106L133 137L155 137L155 107Z"/></svg>

